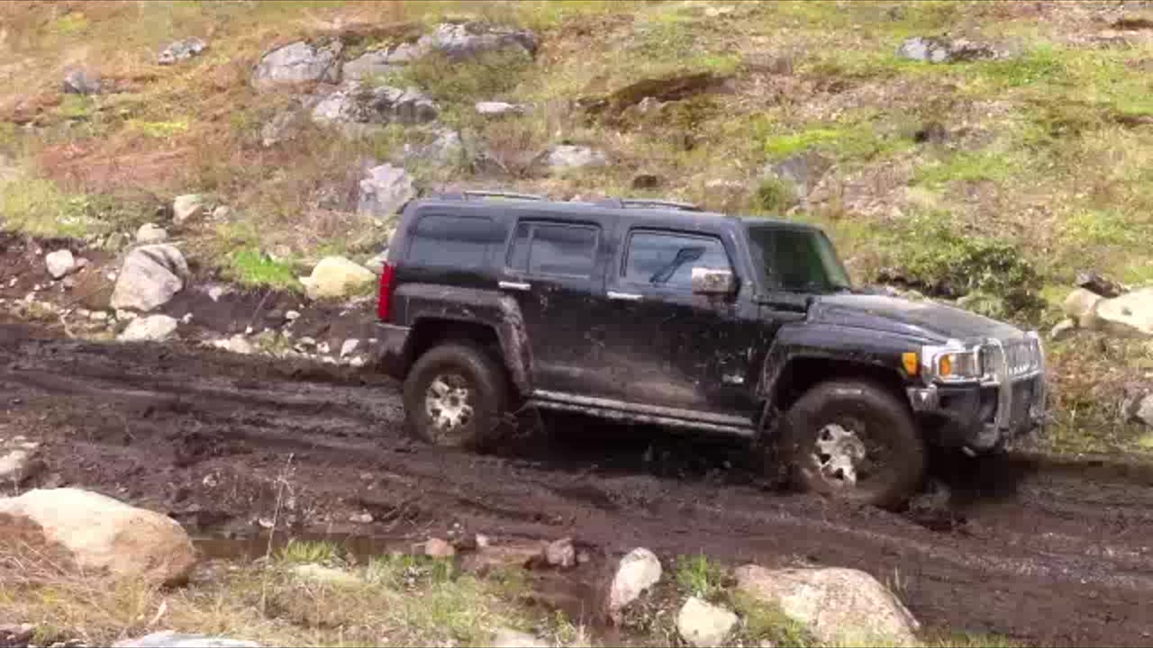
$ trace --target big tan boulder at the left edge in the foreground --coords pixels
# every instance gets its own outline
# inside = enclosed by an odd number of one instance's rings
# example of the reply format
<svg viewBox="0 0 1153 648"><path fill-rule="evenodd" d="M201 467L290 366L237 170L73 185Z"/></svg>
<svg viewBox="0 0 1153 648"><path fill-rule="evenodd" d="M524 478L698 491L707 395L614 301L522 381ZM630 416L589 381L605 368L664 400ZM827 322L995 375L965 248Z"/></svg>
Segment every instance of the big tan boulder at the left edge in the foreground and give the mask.
<svg viewBox="0 0 1153 648"><path fill-rule="evenodd" d="M85 573L180 583L196 564L188 534L172 519L80 489L37 489L0 498L0 547L29 543Z"/></svg>

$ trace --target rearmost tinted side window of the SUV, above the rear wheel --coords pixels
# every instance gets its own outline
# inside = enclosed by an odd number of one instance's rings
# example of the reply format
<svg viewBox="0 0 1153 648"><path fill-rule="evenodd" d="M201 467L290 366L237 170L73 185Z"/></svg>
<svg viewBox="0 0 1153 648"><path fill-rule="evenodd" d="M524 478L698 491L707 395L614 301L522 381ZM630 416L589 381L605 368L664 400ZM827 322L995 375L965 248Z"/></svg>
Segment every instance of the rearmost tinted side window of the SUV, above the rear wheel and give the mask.
<svg viewBox="0 0 1153 648"><path fill-rule="evenodd" d="M481 268L504 242L490 218L429 214L416 221L408 261L419 265Z"/></svg>

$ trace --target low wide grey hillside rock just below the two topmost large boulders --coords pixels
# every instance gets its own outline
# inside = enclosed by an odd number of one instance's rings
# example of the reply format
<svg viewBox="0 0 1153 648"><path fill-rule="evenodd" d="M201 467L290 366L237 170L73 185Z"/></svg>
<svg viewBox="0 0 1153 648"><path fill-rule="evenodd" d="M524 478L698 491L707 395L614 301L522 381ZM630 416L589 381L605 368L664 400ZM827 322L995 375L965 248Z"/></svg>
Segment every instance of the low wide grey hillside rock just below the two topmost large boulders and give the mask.
<svg viewBox="0 0 1153 648"><path fill-rule="evenodd" d="M416 88L367 88L357 82L345 83L312 107L312 120L319 123L413 125L438 114L436 104Z"/></svg>

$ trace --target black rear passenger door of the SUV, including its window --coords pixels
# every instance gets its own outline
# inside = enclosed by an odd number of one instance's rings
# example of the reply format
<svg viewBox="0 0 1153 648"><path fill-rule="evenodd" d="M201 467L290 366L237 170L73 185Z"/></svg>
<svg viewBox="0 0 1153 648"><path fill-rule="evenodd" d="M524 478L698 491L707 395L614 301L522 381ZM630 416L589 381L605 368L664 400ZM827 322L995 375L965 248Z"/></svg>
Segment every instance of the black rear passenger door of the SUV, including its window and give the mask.
<svg viewBox="0 0 1153 648"><path fill-rule="evenodd" d="M612 218L521 217L508 241L499 286L520 303L535 390L602 391L597 345L604 321L605 232Z"/></svg>

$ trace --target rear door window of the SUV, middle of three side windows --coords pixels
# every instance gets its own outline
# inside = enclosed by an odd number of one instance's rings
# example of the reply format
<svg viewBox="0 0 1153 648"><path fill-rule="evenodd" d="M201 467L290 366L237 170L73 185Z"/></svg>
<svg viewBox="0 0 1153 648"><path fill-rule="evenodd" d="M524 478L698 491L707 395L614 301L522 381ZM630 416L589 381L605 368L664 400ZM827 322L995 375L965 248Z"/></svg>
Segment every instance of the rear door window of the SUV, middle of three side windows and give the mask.
<svg viewBox="0 0 1153 648"><path fill-rule="evenodd" d="M508 250L508 268L528 274L590 277L598 233L590 225L521 223Z"/></svg>

